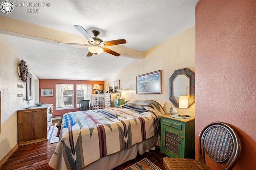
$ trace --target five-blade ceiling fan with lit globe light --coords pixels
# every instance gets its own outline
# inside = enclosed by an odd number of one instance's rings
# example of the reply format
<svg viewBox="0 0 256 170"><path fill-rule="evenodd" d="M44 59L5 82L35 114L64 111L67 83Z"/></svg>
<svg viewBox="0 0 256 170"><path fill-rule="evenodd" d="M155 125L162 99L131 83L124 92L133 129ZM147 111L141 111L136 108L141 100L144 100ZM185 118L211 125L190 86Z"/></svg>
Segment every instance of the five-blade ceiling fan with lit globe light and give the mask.
<svg viewBox="0 0 256 170"><path fill-rule="evenodd" d="M113 51L109 48L106 48L106 47L111 46L111 45L118 45L118 44L126 43L126 40L124 40L124 39L103 42L100 38L98 38L98 35L100 34L100 32L98 32L96 30L92 31L92 33L95 37L91 37L88 34L88 32L86 32L86 30L84 30L84 28L82 26L78 26L78 25L74 25L74 26L88 40L88 43L90 45L83 44L83 43L61 43L61 42L57 42L57 43L66 44L66 45L85 45L85 46L88 46L89 52L87 54L87 57L90 57L93 54L97 55L97 54L103 53L103 51L105 51L106 53L110 53L112 55L115 55L115 56L119 56L120 55L119 53L117 53L117 52L115 52L115 51Z"/></svg>

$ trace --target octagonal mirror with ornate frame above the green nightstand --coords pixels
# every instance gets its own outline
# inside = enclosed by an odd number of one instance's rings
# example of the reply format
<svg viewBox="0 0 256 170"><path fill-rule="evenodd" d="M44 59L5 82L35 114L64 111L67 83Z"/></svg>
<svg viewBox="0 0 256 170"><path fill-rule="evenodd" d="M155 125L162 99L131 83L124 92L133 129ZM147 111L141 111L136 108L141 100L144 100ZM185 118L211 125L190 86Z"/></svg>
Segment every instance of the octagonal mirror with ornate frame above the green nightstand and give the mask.
<svg viewBox="0 0 256 170"><path fill-rule="evenodd" d="M169 79L169 100L179 107L180 95L189 95L188 107L195 102L195 73L189 68L175 70Z"/></svg>

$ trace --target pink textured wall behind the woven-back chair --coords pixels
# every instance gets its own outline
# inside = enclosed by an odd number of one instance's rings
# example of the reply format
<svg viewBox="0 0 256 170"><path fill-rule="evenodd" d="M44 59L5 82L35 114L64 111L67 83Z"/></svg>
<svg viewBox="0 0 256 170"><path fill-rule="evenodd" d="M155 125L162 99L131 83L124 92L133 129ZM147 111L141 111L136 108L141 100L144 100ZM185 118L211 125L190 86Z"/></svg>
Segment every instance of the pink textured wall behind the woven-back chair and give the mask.
<svg viewBox="0 0 256 170"><path fill-rule="evenodd" d="M196 5L196 136L213 121L231 124L242 143L235 170L256 167L255 73L256 1L200 0ZM196 148L197 144L196 139ZM223 168L208 158L206 164Z"/></svg>

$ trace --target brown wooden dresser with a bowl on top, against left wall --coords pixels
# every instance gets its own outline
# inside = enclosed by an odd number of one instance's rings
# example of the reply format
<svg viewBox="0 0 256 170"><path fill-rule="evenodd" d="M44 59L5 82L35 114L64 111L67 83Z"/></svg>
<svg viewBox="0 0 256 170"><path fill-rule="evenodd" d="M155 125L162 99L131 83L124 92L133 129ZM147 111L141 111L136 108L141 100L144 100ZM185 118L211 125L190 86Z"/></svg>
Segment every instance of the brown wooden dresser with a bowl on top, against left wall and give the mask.
<svg viewBox="0 0 256 170"><path fill-rule="evenodd" d="M18 146L48 140L53 104L18 110Z"/></svg>

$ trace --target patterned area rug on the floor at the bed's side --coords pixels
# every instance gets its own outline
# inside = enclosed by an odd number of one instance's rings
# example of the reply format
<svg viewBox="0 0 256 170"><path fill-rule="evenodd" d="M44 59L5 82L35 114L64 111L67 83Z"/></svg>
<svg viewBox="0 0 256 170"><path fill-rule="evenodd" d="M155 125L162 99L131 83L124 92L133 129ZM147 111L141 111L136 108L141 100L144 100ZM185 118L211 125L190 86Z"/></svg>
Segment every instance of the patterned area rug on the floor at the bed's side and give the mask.
<svg viewBox="0 0 256 170"><path fill-rule="evenodd" d="M142 159L141 161L129 166L124 170L161 170L155 164L150 162L147 158Z"/></svg>

